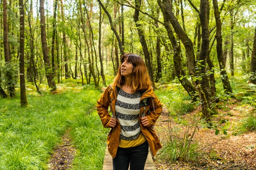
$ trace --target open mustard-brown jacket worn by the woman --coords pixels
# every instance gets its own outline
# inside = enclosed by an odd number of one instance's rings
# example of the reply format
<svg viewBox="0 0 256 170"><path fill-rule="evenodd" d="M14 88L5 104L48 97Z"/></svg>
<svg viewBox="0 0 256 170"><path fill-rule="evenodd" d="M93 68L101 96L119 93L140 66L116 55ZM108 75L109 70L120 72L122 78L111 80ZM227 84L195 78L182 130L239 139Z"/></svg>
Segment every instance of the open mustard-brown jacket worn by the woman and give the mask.
<svg viewBox="0 0 256 170"><path fill-rule="evenodd" d="M112 113L112 116L116 118L115 114L115 103L116 103L116 96L117 91L119 91L120 88L118 88L114 83L108 86L108 88L105 89L99 100L97 101L97 112L100 116L100 119L102 121L102 125L104 127L111 128L109 126L109 121L111 119L110 112ZM144 100L143 100L144 99ZM146 99L146 100L145 100ZM108 108L110 107L110 111L108 111ZM153 88L149 87L145 91L141 92L141 98L140 98L140 116L139 116L139 122L141 116L147 116L148 122L150 125L147 127L144 127L142 123L140 122L140 128L145 136L145 139L148 141L148 145L150 147L150 150L155 156L157 151L162 147L155 131L153 130L154 124L156 123L158 117L160 116L162 111L162 104L160 100L157 98L157 96L154 94ZM119 136L121 132L121 126L117 119L117 124L115 127L111 128L108 139L107 139L107 145L108 145L108 152L111 154L113 158L116 157L116 151L119 144Z"/></svg>

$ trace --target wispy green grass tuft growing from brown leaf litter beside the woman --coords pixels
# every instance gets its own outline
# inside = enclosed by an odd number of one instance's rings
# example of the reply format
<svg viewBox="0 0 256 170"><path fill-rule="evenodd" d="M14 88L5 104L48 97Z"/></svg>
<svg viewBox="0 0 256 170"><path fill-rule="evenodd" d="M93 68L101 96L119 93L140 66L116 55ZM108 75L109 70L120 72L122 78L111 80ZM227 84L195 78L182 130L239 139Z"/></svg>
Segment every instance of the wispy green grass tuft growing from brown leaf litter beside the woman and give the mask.
<svg viewBox="0 0 256 170"><path fill-rule="evenodd" d="M167 158L172 162L197 161L201 154L198 142L194 138L198 120L189 121L182 117L174 117L169 122L169 140L160 151L160 159Z"/></svg>

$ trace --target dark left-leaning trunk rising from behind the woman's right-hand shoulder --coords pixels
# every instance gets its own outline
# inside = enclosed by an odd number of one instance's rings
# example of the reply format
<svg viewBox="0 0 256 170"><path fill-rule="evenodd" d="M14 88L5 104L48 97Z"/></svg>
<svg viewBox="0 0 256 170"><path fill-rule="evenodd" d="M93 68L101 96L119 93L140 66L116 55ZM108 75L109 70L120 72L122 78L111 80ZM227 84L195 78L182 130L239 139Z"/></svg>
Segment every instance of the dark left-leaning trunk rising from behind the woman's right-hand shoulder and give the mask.
<svg viewBox="0 0 256 170"><path fill-rule="evenodd" d="M151 65L151 59L150 59L150 54L148 51L148 45L145 39L145 34L143 32L143 28L142 25L139 23L139 15L140 15L140 11L138 9L140 9L140 5L141 5L141 0L135 0L135 11L134 11L134 22L140 37L140 43L141 46L143 48L143 54L145 57L145 64L148 68L148 74L150 76L151 82L152 82L152 86L153 88L155 88L155 84L154 84L154 74L153 74L153 69L152 69L152 65Z"/></svg>

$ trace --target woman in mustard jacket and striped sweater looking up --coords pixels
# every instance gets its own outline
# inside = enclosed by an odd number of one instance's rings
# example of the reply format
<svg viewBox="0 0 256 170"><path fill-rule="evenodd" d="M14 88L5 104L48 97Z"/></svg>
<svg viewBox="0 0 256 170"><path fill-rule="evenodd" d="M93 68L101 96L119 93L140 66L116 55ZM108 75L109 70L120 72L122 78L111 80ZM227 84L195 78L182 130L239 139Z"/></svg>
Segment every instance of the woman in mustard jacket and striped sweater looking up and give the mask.
<svg viewBox="0 0 256 170"><path fill-rule="evenodd" d="M108 112L108 107L112 112ZM114 82L97 101L97 112L108 134L113 170L144 170L148 146L153 156L162 145L153 130L162 111L142 57L124 54Z"/></svg>

